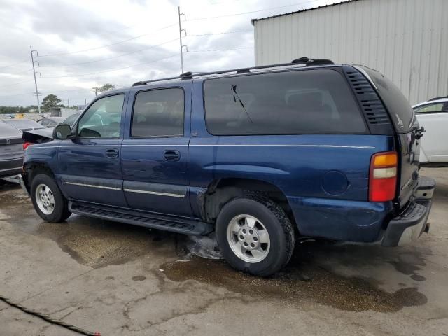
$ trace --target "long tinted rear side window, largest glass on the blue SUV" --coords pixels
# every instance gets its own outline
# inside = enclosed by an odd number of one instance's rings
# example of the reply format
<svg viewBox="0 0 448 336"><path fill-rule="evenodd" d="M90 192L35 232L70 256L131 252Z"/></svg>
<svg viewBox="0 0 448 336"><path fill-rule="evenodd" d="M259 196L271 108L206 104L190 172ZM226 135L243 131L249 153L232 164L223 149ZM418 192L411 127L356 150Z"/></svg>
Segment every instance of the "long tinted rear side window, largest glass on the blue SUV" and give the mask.
<svg viewBox="0 0 448 336"><path fill-rule="evenodd" d="M215 135L365 133L351 89L335 70L300 70L204 82Z"/></svg>

